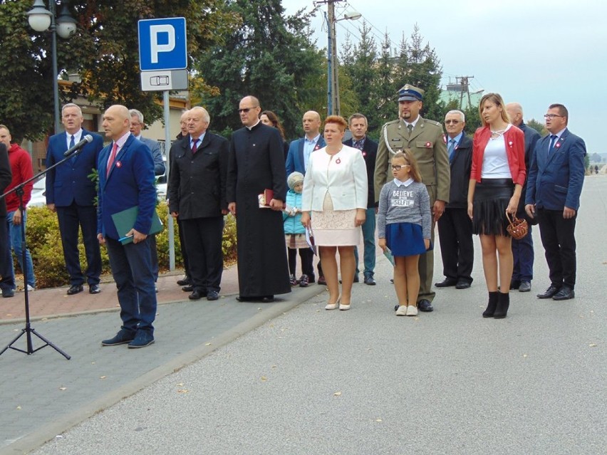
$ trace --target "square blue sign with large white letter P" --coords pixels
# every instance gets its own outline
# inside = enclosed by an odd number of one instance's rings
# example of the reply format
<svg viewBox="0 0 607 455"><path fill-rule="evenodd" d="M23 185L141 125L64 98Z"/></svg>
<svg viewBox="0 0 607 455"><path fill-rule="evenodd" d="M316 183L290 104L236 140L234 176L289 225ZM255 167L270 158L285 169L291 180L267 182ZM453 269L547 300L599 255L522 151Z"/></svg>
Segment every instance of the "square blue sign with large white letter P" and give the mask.
<svg viewBox="0 0 607 455"><path fill-rule="evenodd" d="M142 71L187 68L185 17L138 22L139 66Z"/></svg>

